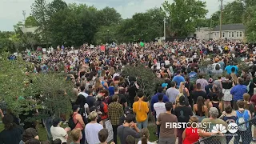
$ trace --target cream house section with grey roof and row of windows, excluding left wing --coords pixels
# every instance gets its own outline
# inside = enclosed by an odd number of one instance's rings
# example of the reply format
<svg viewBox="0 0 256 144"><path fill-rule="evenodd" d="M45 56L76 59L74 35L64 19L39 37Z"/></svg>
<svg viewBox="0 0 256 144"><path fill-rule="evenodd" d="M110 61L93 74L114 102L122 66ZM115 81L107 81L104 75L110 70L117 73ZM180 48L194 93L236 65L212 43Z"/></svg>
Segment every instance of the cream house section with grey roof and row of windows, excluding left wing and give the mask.
<svg viewBox="0 0 256 144"><path fill-rule="evenodd" d="M220 38L220 26L216 26L211 31L211 38ZM222 38L245 40L246 39L246 26L242 23L222 25Z"/></svg>

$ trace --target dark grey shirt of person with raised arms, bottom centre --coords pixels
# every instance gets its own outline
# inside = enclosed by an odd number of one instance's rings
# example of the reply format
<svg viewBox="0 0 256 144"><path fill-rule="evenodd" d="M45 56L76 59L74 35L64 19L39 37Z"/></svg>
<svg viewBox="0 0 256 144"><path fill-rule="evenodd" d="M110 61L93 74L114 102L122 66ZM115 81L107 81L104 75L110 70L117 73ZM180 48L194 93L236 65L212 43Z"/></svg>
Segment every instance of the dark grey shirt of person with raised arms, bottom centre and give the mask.
<svg viewBox="0 0 256 144"><path fill-rule="evenodd" d="M120 138L121 143L126 143L126 138L128 135L133 136L134 138L141 138L142 134L131 129L128 126L118 126L118 137Z"/></svg>

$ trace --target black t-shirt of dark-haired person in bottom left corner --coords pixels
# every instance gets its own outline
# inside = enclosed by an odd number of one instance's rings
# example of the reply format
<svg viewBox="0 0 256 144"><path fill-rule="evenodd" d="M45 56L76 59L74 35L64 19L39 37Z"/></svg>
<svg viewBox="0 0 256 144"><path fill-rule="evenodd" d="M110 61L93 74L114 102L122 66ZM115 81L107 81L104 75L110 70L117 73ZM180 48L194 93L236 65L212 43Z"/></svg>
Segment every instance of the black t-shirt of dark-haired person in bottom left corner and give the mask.
<svg viewBox="0 0 256 144"><path fill-rule="evenodd" d="M15 126L11 130L2 130L0 133L0 143L3 144L18 144L22 140L23 129L20 126Z"/></svg>

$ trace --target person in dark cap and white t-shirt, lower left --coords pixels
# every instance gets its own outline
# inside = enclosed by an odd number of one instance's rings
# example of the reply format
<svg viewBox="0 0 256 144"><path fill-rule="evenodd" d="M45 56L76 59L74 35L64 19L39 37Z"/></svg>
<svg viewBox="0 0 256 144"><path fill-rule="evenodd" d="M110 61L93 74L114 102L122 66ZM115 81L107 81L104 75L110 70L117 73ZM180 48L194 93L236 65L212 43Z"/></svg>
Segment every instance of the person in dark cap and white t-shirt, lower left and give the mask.
<svg viewBox="0 0 256 144"><path fill-rule="evenodd" d="M61 118L54 118L53 119L53 126L50 127L50 133L53 136L53 140L60 139L63 142L66 142L68 138L67 132L70 131L69 127L66 127L66 129L63 129L60 127L62 124Z"/></svg>

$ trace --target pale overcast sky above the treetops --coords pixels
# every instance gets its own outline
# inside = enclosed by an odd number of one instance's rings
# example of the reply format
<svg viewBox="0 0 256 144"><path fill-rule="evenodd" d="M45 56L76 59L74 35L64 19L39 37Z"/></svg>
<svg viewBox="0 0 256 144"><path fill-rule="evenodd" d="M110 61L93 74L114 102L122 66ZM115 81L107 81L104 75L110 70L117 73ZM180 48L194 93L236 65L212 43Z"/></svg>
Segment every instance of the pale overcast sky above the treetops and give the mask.
<svg viewBox="0 0 256 144"><path fill-rule="evenodd" d="M51 2L52 0L46 0ZM106 6L114 7L122 15L122 18L131 18L133 14L145 12L154 7L162 6L165 0L63 0L67 3L85 3L102 9ZM173 2L172 0L167 0ZM207 18L218 10L219 0L202 0L206 2L206 9L209 10ZM223 3L233 2L234 0L223 0ZM34 0L0 0L0 30L12 31L13 26L23 21L22 10L26 10L26 17L30 15L30 6Z"/></svg>

